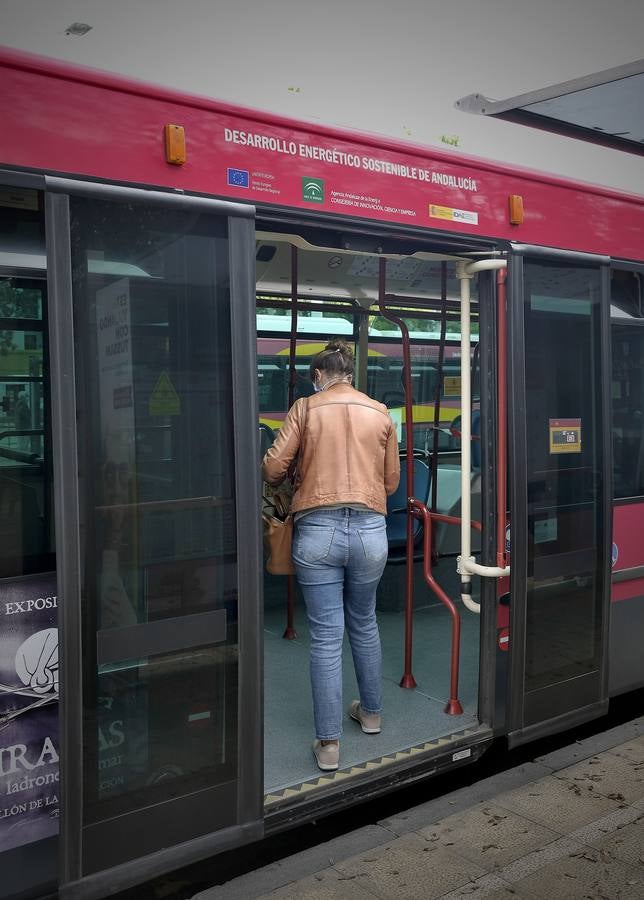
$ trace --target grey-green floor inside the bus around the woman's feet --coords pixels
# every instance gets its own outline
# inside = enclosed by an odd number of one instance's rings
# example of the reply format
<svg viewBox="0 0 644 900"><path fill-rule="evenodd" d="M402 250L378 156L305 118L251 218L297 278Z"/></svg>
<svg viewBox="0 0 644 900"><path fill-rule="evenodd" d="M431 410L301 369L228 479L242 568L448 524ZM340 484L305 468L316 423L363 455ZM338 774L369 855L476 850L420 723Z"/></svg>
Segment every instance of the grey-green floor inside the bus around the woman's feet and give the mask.
<svg viewBox="0 0 644 900"><path fill-rule="evenodd" d="M340 768L418 746L477 724L479 617L461 622L459 699L463 714L444 712L449 695L451 619L441 605L414 613L413 675L417 687L399 686L404 660L404 615L379 612L382 644L382 731L363 734L348 714L340 740ZM309 681L309 635L304 610L296 606L297 638L285 640L285 609L266 611L264 620L264 786L265 793L317 777L311 744L315 737ZM345 710L358 698L351 651L343 648Z"/></svg>

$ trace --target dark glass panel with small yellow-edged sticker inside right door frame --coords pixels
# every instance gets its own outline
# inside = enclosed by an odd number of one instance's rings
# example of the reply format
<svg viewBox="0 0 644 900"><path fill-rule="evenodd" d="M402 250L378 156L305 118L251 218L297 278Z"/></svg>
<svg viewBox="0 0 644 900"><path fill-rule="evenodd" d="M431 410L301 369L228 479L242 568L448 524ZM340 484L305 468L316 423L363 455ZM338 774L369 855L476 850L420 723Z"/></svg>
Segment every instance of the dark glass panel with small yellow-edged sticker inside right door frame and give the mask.
<svg viewBox="0 0 644 900"><path fill-rule="evenodd" d="M524 277L529 725L599 696L606 511L600 272L526 262Z"/></svg>

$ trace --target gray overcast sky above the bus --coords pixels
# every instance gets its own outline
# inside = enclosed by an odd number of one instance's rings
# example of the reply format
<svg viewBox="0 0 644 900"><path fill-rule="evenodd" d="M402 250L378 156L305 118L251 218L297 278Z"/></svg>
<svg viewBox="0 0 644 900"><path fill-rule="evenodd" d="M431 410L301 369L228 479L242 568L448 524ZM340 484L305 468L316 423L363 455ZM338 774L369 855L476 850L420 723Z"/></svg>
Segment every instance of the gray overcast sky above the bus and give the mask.
<svg viewBox="0 0 644 900"><path fill-rule="evenodd" d="M0 0L8 46L642 194L641 157L453 104L631 62L643 35L643 0Z"/></svg>

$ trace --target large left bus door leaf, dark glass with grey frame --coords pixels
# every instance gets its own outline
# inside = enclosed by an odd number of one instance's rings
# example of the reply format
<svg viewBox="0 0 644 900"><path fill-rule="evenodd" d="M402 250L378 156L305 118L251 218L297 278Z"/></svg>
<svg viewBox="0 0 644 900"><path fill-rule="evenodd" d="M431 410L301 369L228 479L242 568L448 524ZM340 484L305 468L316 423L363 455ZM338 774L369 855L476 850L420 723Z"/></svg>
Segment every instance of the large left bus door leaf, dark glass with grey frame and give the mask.
<svg viewBox="0 0 644 900"><path fill-rule="evenodd" d="M254 209L46 187L61 891L91 898L262 834Z"/></svg>

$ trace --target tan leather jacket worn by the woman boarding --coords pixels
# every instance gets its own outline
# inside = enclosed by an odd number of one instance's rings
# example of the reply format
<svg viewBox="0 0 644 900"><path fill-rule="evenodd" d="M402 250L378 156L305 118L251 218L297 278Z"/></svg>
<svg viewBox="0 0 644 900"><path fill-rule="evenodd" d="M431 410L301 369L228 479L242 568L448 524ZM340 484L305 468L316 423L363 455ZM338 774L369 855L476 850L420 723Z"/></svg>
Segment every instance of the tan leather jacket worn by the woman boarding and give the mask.
<svg viewBox="0 0 644 900"><path fill-rule="evenodd" d="M300 450L292 512L338 503L386 512L386 495L400 480L400 458L396 428L382 403L345 383L297 400L263 459L264 480L280 484Z"/></svg>

